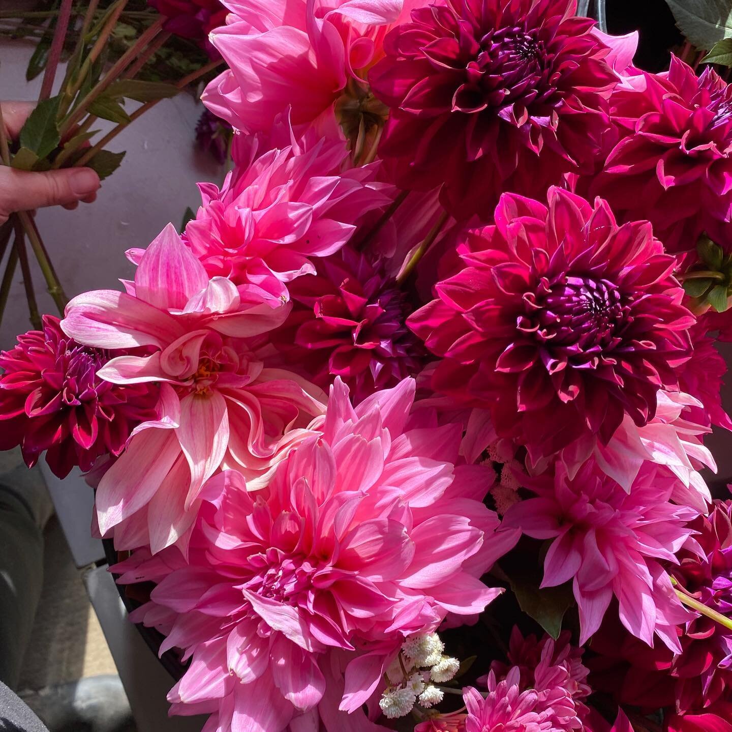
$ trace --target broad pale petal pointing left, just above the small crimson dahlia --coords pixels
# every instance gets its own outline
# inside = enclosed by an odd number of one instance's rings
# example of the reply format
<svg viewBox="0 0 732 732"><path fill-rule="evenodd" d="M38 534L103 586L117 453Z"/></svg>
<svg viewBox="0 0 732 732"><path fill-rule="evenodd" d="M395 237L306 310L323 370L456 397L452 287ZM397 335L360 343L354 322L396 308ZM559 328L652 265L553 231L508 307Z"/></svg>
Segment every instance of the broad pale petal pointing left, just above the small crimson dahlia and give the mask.
<svg viewBox="0 0 732 732"><path fill-rule="evenodd" d="M124 292L98 289L74 297L61 328L79 343L97 348L165 347L182 335L170 315Z"/></svg>

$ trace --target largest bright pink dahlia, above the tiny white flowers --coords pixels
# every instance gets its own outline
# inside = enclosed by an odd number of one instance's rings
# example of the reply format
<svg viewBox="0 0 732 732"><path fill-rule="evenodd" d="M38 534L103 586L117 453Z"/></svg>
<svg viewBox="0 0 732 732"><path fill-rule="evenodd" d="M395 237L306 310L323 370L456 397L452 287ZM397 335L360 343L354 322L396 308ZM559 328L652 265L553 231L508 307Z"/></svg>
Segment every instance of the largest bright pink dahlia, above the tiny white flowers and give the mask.
<svg viewBox="0 0 732 732"><path fill-rule="evenodd" d="M187 562L173 549L116 568L160 580L135 617L167 632L161 651L192 657L174 712L205 705L210 729L249 732L319 714L340 732L349 717L319 706L334 652L348 659L340 709L358 711L405 637L500 593L479 577L515 530L482 504L485 471L454 466L459 426L405 429L413 400L408 379L354 409L336 380L318 434L267 487L248 492L234 470L209 480Z"/></svg>

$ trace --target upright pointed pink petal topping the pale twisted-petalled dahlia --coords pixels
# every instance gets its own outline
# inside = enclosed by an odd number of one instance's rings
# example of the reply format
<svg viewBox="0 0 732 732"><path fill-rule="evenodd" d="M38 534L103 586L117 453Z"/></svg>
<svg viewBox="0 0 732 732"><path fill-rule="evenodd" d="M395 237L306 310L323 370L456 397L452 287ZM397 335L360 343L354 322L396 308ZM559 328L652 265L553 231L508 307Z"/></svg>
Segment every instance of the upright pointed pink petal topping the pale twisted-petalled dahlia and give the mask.
<svg viewBox="0 0 732 732"><path fill-rule="evenodd" d="M152 240L135 272L135 295L160 310L183 308L208 284L206 270L172 223Z"/></svg>

